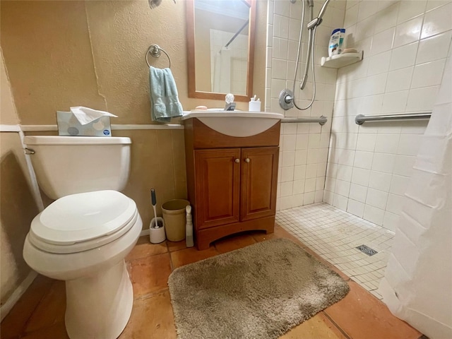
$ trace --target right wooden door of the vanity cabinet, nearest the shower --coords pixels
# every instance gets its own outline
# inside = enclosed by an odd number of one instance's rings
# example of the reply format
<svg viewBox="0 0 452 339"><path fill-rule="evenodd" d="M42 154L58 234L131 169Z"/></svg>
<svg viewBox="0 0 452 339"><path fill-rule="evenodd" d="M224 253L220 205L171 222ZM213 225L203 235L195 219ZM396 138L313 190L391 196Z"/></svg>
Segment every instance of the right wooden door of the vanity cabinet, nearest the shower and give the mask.
<svg viewBox="0 0 452 339"><path fill-rule="evenodd" d="M275 215L278 147L242 148L240 220Z"/></svg>

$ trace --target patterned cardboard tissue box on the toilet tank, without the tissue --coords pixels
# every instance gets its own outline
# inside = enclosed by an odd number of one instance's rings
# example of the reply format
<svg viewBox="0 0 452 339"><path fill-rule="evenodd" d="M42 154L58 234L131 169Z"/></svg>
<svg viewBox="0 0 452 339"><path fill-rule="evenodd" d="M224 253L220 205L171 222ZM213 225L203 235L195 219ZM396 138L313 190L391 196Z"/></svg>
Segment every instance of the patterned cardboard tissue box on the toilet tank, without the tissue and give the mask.
<svg viewBox="0 0 452 339"><path fill-rule="evenodd" d="M71 112L57 111L60 136L112 136L109 117L100 117L82 125Z"/></svg>

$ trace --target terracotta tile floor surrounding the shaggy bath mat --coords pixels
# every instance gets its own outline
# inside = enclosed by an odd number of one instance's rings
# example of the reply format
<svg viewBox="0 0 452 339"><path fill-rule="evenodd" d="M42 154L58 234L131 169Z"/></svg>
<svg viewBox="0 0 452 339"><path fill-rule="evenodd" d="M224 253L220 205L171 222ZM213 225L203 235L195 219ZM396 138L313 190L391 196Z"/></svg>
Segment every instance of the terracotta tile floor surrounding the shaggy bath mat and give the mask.
<svg viewBox="0 0 452 339"><path fill-rule="evenodd" d="M278 225L273 234L247 232L221 239L205 251L187 249L184 242L150 244L141 237L126 258L135 296L131 319L121 339L173 339L176 327L167 287L169 274L179 266L239 249L266 239L284 237L307 246ZM331 266L330 264L326 263ZM331 266L350 285L348 295L301 323L282 339L418 339L422 334L397 319L387 307L361 286ZM64 339L64 282L39 275L1 323L3 339ZM103 339L103 338L98 338ZM218 338L222 339L222 338Z"/></svg>

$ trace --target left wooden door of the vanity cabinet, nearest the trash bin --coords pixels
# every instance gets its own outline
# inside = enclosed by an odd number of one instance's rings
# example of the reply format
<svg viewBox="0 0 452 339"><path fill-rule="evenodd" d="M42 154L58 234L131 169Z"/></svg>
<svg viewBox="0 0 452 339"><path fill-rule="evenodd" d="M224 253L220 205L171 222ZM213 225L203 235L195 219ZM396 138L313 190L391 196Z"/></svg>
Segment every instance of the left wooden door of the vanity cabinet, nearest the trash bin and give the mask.
<svg viewBox="0 0 452 339"><path fill-rule="evenodd" d="M195 150L196 228L239 221L240 149Z"/></svg>

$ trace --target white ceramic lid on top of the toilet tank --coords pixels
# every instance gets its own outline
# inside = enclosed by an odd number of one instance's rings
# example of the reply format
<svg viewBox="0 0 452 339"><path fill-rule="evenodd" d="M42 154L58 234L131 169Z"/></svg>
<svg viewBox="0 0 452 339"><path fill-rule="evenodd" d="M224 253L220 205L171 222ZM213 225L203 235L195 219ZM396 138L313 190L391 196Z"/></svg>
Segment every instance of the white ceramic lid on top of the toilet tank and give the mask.
<svg viewBox="0 0 452 339"><path fill-rule="evenodd" d="M131 139L124 136L25 136L25 145L129 145Z"/></svg>

